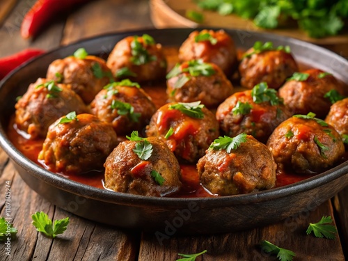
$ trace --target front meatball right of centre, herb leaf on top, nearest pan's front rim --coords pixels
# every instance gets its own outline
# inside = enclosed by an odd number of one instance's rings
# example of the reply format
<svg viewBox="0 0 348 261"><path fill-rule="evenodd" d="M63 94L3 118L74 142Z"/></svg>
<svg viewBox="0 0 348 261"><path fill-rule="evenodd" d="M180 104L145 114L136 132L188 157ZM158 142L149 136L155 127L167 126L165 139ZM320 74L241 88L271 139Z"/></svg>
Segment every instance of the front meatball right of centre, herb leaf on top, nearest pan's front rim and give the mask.
<svg viewBox="0 0 348 261"><path fill-rule="evenodd" d="M244 140L237 148L230 151L209 148L199 159L200 182L211 193L228 196L274 187L276 163L266 145L246 134L220 139L232 141L242 137Z"/></svg>

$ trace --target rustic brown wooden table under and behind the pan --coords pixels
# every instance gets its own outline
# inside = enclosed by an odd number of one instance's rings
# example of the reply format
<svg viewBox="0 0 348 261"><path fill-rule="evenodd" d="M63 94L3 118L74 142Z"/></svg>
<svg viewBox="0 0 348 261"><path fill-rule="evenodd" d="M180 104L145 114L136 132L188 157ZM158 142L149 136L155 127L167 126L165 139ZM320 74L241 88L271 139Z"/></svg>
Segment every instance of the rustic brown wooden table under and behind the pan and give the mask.
<svg viewBox="0 0 348 261"><path fill-rule="evenodd" d="M22 17L33 0L0 1L0 57L26 47L53 49L81 38L139 28L152 28L146 0L91 1L62 15L33 41L19 35ZM197 260L276 260L260 251L262 239L296 253L294 260L345 260L348 258L348 188L315 209L290 216L271 226L244 232L211 236L173 236L161 245L154 234L130 232L82 219L55 207L29 189L16 173L5 152L0 150L0 207L4 216L5 182L10 181L11 214L18 229L11 244L11 256L0 245L0 260L176 260L177 253L198 253ZM38 233L31 214L43 211L52 219L70 217L68 230L56 239ZM335 240L306 235L308 223L332 216L338 228ZM204 218L204 217L203 217Z"/></svg>

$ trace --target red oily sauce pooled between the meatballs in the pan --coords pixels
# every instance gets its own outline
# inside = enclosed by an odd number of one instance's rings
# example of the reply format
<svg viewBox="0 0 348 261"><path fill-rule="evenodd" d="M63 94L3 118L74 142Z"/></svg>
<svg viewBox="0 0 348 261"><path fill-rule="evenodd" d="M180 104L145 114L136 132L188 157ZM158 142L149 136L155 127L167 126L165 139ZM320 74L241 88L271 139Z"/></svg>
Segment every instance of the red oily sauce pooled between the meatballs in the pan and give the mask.
<svg viewBox="0 0 348 261"><path fill-rule="evenodd" d="M168 70L171 70L175 63L177 63L177 47L164 47L164 53L166 55L168 61ZM239 52L240 53L240 52ZM301 70L305 68L305 66L300 65ZM235 92L244 90L241 87L236 87L238 85L237 82L233 81L232 84L235 87ZM146 93L152 97L152 101L155 103L157 109L162 105L166 104L167 95L166 95L166 82L162 81L156 84L142 84L141 87L145 90ZM212 110L214 112L214 109ZM17 132L17 128L15 125L15 116L13 116L9 122L8 127L8 138L15 145L15 147L22 152L28 159L34 161L36 164L43 166L44 168L49 169L45 164L42 164L38 161L38 154L42 149L42 144L44 142L43 139L38 139L35 141L29 140L25 138L25 135L21 135L20 132ZM165 125L165 120L162 122ZM187 132L194 133L193 129L187 129ZM119 136L118 139L120 141L125 140L125 137ZM347 153L345 157L342 158L343 161L347 160ZM212 193L205 190L201 184L198 177L198 172L196 170L196 165L180 165L181 173L182 173L182 190L178 193L172 194L171 197L180 197L180 198L194 198L194 197L212 197ZM54 169L49 169L49 171L56 172ZM323 170L325 171L325 170ZM65 173L57 173L58 175L62 175L63 177L67 177L70 180L74 180L76 182L80 182L82 184L87 184L92 187L97 187L99 189L104 189L103 180L104 180L104 171L90 171L89 173L84 173L83 175L66 175ZM305 180L308 177L312 177L313 175L295 175L292 173L278 173L276 180L276 187L282 187L287 184L292 184L294 182L299 182L301 180Z"/></svg>

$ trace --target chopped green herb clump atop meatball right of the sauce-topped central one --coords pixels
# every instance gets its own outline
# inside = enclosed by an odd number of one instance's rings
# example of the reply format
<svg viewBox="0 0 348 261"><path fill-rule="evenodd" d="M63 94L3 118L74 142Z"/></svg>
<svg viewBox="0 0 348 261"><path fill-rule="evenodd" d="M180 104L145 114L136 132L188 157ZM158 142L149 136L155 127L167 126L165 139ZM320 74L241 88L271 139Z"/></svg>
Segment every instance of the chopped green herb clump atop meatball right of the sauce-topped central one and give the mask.
<svg viewBox="0 0 348 261"><path fill-rule="evenodd" d="M269 102L272 106L283 103L283 100L277 96L277 91L269 89L265 82L255 85L251 90L251 97L255 103Z"/></svg>

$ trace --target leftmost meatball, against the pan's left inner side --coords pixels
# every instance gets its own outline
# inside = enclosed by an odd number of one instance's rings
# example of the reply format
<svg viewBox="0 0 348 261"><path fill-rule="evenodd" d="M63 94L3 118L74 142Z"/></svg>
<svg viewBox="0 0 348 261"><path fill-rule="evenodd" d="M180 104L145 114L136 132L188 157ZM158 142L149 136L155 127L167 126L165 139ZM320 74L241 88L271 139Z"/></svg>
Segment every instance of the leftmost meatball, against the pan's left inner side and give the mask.
<svg viewBox="0 0 348 261"><path fill-rule="evenodd" d="M39 78L15 105L15 123L30 139L46 137L49 125L70 111L88 112L81 97L65 84Z"/></svg>

